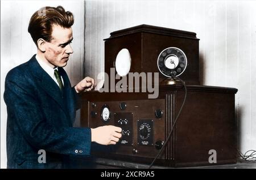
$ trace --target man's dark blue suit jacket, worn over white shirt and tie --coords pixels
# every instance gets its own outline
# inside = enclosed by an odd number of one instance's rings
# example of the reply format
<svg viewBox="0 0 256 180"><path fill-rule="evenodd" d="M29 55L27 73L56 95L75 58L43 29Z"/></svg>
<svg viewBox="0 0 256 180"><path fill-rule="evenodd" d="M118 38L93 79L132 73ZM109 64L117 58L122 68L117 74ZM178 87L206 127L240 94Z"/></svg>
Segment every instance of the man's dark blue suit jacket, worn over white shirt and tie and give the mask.
<svg viewBox="0 0 256 180"><path fill-rule="evenodd" d="M72 127L76 91L63 68L64 89L40 67L35 55L9 71L7 105L7 168L65 168L68 155L89 155L90 128ZM46 151L46 163L38 151Z"/></svg>

